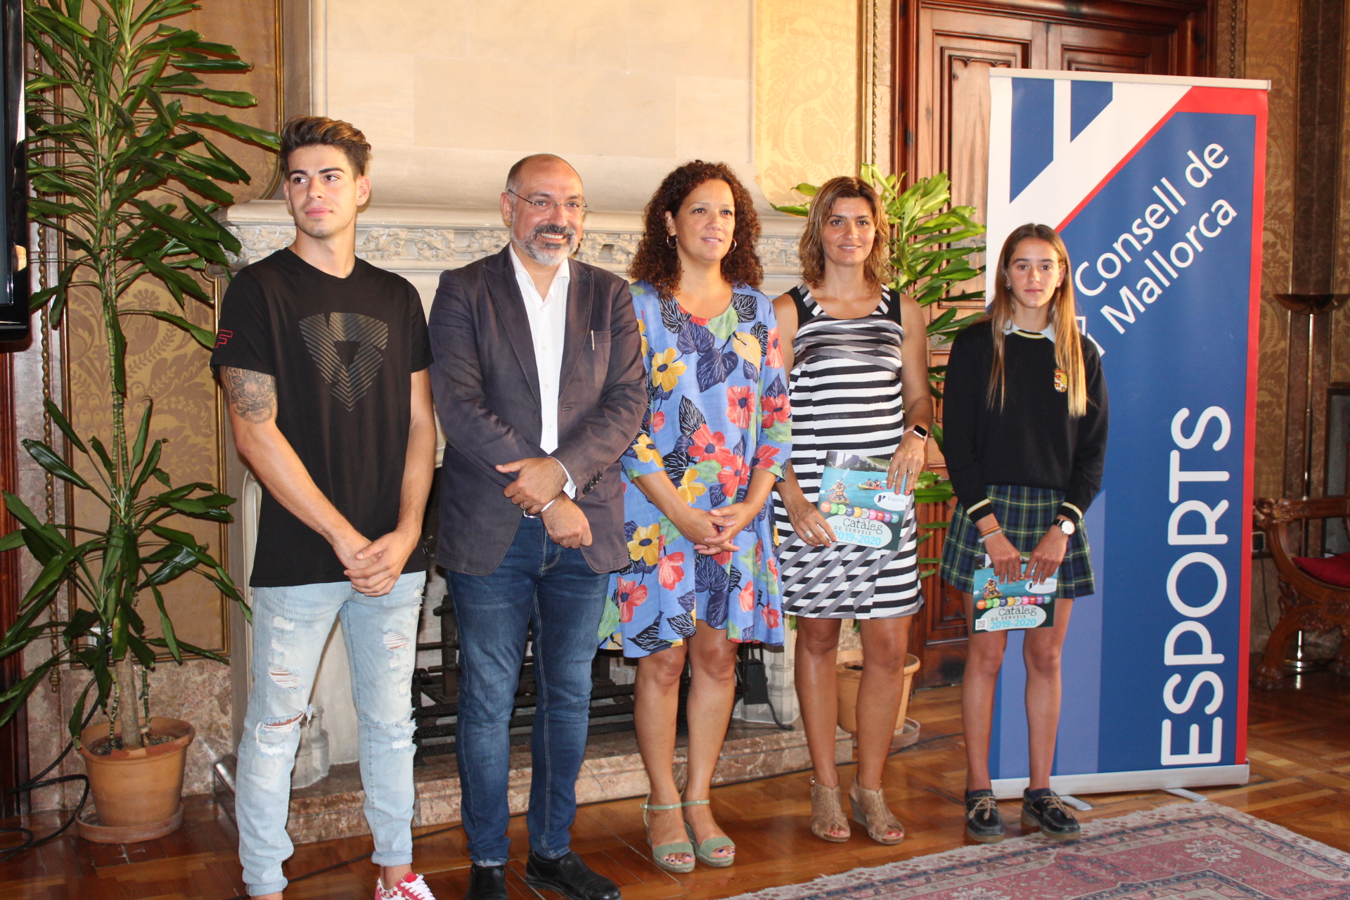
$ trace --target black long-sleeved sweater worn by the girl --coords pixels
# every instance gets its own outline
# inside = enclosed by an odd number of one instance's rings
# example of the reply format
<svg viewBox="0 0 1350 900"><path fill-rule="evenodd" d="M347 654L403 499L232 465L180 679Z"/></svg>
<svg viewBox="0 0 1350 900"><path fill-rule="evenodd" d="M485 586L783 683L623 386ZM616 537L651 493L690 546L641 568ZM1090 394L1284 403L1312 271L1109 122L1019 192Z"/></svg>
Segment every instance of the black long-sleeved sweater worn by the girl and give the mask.
<svg viewBox="0 0 1350 900"><path fill-rule="evenodd" d="M942 403L942 455L956 497L971 518L992 513L990 484L1064 491L1064 514L1079 521L1102 487L1107 398L1102 358L1083 341L1088 410L1069 417L1069 395L1054 389L1054 341L1013 331L1003 340L1007 394L987 402L994 364L991 322L961 332L952 344ZM976 509L979 507L979 509Z"/></svg>

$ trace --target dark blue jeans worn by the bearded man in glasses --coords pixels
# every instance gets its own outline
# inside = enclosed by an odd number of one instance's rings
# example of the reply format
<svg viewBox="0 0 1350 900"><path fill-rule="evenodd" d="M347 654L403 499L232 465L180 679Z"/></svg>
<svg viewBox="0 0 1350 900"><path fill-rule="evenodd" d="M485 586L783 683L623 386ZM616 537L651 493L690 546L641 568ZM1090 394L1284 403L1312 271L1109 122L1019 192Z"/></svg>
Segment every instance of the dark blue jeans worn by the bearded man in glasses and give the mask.
<svg viewBox="0 0 1350 900"><path fill-rule="evenodd" d="M522 518L516 540L491 575L447 572L459 625L459 718L455 727L468 855L504 865L510 850L506 780L510 716L525 633L535 630L539 707L531 734L531 850L556 860L571 850L576 773L586 752L591 660L609 575L582 552L552 541L537 518Z"/></svg>

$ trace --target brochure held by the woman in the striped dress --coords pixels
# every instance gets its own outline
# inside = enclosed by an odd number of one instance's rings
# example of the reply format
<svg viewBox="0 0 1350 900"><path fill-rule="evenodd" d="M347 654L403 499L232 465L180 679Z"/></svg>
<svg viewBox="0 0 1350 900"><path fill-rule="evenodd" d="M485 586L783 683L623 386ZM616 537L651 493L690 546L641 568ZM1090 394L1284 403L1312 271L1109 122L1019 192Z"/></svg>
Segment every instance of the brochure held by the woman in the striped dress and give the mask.
<svg viewBox="0 0 1350 900"><path fill-rule="evenodd" d="M821 511L840 544L898 551L914 530L914 498L886 488L888 457L830 451L821 472ZM899 487L899 486L898 486Z"/></svg>

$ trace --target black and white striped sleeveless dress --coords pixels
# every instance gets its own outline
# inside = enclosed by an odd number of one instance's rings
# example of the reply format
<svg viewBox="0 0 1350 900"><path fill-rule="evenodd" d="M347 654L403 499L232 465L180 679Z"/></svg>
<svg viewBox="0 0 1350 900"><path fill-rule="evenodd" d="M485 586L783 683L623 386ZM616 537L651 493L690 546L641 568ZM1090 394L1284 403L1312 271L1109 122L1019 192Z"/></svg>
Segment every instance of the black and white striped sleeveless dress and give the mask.
<svg viewBox="0 0 1350 900"><path fill-rule="evenodd" d="M817 503L829 451L888 457L899 447L905 328L899 297L888 289L861 318L832 318L806 285L788 294L798 322L788 374L792 471L806 499ZM774 517L784 613L867 619L910 615L922 606L913 529L898 553L856 544L811 546L796 536L776 494Z"/></svg>

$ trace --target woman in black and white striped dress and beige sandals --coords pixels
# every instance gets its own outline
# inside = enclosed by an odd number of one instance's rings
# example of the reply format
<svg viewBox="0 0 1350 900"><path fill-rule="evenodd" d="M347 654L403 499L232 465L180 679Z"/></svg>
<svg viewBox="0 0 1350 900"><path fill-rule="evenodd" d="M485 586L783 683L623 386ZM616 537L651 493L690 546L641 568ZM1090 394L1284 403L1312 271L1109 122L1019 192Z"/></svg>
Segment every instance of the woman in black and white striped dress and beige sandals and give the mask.
<svg viewBox="0 0 1350 900"><path fill-rule="evenodd" d="M880 457L886 487L911 494L933 426L927 340L917 302L886 289L888 228L880 200L859 178L821 186L802 235L805 283L774 301L788 370L792 457L778 483L775 515L783 611L796 615L796 694L815 777L811 831L846 841L834 769L838 721L834 664L840 622L859 619L863 681L857 692L853 820L880 843L905 828L882 796L882 769L899 712L910 615L919 595L913 503L900 506L899 546L841 542L821 505L842 484L821 484L826 455ZM913 340L905 340L906 335ZM876 476L868 479L873 484ZM872 490L872 488L868 488ZM879 488L876 488L879 490Z"/></svg>

